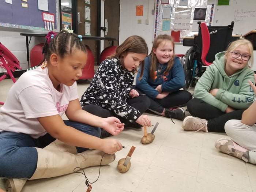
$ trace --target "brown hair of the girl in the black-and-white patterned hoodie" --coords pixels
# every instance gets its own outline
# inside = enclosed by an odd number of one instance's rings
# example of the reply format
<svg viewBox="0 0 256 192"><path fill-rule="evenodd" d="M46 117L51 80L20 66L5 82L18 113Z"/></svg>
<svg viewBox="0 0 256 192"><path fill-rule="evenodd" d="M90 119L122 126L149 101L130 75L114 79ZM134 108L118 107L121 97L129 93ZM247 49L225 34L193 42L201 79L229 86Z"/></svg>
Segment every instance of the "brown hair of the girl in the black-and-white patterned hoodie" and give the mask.
<svg viewBox="0 0 256 192"><path fill-rule="evenodd" d="M124 68L124 57L129 53L141 53L141 54L148 54L148 47L147 47L147 43L146 41L138 36L138 35L132 35L130 37L128 37L127 39L125 39L125 41L119 45L116 48L116 53L110 55L107 58L119 58L121 65ZM143 71L144 71L144 60L141 62L141 74L140 74L140 78L142 78L143 76ZM132 70L132 73L138 73L138 70L135 68Z"/></svg>

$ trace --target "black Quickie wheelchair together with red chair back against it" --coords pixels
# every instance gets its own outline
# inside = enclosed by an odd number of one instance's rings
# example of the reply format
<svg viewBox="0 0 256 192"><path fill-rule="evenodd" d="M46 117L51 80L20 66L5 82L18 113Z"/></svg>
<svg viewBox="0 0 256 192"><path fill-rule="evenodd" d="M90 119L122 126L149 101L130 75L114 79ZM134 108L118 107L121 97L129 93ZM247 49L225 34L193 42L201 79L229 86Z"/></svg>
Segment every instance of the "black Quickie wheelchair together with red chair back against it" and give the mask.
<svg viewBox="0 0 256 192"><path fill-rule="evenodd" d="M215 60L215 54L225 51L230 42L240 38L232 37L234 21L227 26L207 26L197 22L198 35L184 38L183 46L192 46L183 58L182 66L185 73L184 90L195 87L207 66Z"/></svg>

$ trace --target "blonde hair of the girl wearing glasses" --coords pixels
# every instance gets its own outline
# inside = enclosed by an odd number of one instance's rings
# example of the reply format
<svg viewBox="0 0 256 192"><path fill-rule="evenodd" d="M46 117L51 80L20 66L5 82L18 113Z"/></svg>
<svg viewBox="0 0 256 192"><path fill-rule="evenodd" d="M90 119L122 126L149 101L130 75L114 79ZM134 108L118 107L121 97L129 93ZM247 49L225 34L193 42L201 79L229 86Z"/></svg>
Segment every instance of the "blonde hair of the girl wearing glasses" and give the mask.
<svg viewBox="0 0 256 192"><path fill-rule="evenodd" d="M248 65L252 68L252 65L253 65L253 46L252 46L251 41L249 41L247 39L238 39L236 41L232 41L232 42L229 43L229 46L227 46L226 53L229 53L229 52L235 50L240 45L247 45L248 46L250 56L251 56L251 58L248 60ZM224 60L225 65L226 65L226 62L227 62L227 60L225 59Z"/></svg>

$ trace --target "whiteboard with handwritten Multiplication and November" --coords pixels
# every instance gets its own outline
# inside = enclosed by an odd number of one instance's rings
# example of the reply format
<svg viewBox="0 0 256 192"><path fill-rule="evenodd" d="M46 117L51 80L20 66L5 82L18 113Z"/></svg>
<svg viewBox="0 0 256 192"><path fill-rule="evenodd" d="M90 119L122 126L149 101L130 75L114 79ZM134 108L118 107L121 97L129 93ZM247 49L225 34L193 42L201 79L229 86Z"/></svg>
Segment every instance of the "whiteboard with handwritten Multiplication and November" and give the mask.
<svg viewBox="0 0 256 192"><path fill-rule="evenodd" d="M256 0L229 0L229 5L215 7L213 26L230 25L234 34L244 35L256 29Z"/></svg>

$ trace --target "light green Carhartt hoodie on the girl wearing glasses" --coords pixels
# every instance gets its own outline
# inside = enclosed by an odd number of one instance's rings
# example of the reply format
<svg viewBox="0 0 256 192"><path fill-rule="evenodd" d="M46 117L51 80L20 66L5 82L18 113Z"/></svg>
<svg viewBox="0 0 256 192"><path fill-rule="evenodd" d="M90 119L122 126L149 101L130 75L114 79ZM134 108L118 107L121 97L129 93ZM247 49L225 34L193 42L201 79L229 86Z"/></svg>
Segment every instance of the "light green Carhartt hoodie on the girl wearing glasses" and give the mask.
<svg viewBox="0 0 256 192"><path fill-rule="evenodd" d="M247 109L254 101L255 94L248 83L254 82L254 72L246 65L235 74L227 76L225 72L225 52L215 55L215 60L209 65L196 83L194 97L225 112L227 106L234 109ZM216 97L209 91L217 88Z"/></svg>

